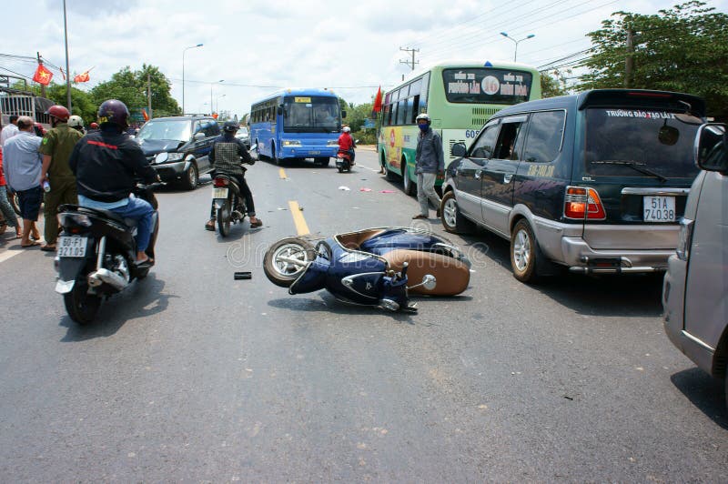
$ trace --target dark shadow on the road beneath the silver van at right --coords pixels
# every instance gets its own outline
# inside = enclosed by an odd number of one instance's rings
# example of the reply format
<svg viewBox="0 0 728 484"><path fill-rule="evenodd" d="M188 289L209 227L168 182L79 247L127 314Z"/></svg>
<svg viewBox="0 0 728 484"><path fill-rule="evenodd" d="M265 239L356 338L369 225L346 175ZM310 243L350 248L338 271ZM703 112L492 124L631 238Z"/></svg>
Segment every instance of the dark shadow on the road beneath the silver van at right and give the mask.
<svg viewBox="0 0 728 484"><path fill-rule="evenodd" d="M672 375L670 380L706 417L728 430L725 391L720 380L700 368L682 370Z"/></svg>

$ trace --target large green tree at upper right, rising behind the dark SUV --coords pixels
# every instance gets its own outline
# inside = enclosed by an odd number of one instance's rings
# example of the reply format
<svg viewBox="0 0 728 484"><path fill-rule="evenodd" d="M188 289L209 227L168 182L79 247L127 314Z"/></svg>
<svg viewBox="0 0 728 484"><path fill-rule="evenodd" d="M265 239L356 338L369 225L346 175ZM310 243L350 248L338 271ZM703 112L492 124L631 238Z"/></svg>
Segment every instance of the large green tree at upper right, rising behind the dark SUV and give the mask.
<svg viewBox="0 0 728 484"><path fill-rule="evenodd" d="M693 0L657 15L615 12L588 34L593 54L580 87L685 92L703 96L709 116L728 116L728 15L704 5Z"/></svg>

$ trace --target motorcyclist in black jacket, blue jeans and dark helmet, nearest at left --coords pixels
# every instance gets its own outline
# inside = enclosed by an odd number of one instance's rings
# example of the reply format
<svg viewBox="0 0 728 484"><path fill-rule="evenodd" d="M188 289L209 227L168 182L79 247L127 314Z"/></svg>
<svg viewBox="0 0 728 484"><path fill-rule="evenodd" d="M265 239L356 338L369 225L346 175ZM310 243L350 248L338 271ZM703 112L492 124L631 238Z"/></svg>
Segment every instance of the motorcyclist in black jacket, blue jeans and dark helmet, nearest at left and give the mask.
<svg viewBox="0 0 728 484"><path fill-rule="evenodd" d="M131 195L135 178L145 183L158 181L141 147L126 136L129 110L116 99L98 107L100 130L76 144L68 165L76 175L78 203L81 207L110 210L137 220L136 264L154 264L145 251L152 232L154 208Z"/></svg>

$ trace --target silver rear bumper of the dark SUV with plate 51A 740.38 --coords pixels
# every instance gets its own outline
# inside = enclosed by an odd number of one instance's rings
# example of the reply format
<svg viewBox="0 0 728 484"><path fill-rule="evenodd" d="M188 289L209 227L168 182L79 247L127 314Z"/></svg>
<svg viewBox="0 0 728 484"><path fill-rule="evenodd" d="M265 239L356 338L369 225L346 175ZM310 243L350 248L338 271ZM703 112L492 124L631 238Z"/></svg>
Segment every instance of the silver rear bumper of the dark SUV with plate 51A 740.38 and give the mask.
<svg viewBox="0 0 728 484"><path fill-rule="evenodd" d="M573 272L616 274L667 269L674 249L594 249L581 237L561 237L562 262Z"/></svg>

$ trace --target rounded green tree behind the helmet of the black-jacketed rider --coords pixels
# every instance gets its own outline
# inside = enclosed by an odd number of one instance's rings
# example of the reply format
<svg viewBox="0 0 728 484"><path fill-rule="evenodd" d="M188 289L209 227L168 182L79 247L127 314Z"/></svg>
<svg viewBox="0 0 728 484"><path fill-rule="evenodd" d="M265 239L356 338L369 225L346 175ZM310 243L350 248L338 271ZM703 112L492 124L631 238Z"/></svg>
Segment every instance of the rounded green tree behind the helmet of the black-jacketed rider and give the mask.
<svg viewBox="0 0 728 484"><path fill-rule="evenodd" d="M130 110L143 108L147 106L147 78L151 85L154 116L179 114L181 110L177 101L170 95L171 83L156 66L145 64L136 71L126 66L111 76L109 81L94 87L91 95L97 105L106 99L118 99Z"/></svg>

